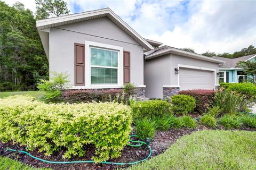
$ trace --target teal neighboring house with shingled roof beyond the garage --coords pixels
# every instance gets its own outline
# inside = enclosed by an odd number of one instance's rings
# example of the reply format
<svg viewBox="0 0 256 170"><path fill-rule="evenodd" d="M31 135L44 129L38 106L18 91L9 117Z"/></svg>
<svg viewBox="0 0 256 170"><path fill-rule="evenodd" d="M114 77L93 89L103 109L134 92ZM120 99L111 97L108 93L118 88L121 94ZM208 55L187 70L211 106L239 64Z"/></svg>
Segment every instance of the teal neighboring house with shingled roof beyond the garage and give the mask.
<svg viewBox="0 0 256 170"><path fill-rule="evenodd" d="M244 70L242 68L237 67L236 64L239 61L256 61L256 54L238 58L223 58L216 56L214 56L213 58L226 62L219 66L219 82L241 83L247 82L247 80L251 77L244 73Z"/></svg>

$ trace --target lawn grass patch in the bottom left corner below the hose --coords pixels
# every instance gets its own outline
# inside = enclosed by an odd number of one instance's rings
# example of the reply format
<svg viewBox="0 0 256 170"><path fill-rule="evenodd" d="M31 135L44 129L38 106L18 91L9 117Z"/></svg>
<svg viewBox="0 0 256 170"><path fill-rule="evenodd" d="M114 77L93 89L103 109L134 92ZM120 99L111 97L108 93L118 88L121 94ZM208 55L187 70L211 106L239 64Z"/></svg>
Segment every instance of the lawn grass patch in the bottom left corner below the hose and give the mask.
<svg viewBox="0 0 256 170"><path fill-rule="evenodd" d="M46 168L34 168L32 166L24 165L20 162L10 158L0 156L0 169L5 170L47 170ZM49 169L50 170L50 169Z"/></svg>

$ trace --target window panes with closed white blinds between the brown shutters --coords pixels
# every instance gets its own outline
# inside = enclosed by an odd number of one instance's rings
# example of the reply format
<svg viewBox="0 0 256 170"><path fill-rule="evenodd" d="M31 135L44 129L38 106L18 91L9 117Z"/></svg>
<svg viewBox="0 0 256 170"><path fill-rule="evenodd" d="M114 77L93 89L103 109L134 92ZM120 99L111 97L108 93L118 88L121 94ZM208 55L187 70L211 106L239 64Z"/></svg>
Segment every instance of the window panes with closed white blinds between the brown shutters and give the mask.
<svg viewBox="0 0 256 170"><path fill-rule="evenodd" d="M118 52L91 48L91 84L117 84Z"/></svg>

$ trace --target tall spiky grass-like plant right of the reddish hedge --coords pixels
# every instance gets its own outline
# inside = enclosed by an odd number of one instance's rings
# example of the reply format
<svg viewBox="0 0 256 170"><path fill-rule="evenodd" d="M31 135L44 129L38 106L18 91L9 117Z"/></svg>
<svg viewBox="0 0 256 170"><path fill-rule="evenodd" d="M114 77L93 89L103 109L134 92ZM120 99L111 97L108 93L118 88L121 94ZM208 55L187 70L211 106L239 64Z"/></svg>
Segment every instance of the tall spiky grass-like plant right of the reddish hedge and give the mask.
<svg viewBox="0 0 256 170"><path fill-rule="evenodd" d="M213 106L218 106L221 114L234 114L244 105L244 96L229 89L219 90L214 97Z"/></svg>

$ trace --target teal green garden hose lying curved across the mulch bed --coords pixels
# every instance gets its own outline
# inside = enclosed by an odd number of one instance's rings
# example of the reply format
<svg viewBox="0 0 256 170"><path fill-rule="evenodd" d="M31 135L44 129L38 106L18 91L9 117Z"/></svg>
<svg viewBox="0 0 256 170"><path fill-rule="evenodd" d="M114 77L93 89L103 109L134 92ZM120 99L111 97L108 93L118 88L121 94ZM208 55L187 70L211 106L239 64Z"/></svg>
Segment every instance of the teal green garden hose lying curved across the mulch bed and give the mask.
<svg viewBox="0 0 256 170"><path fill-rule="evenodd" d="M139 143L139 145L132 145L130 143L128 143L128 146L131 146L131 147L140 147L142 146L143 144L144 145L147 145L146 142L142 142L142 141L134 141L134 140L131 140L131 137L138 137L137 135L130 135L129 137L129 141L132 142L132 143ZM147 160L151 154L152 154L152 150L151 150L151 147L150 145L147 145L148 146L148 149L149 149L149 154L147 156L147 158L145 159L141 159L141 160L138 160L137 162L131 162L131 163L113 163L113 162L100 162L100 164L112 164L112 165L133 165L133 164L138 164L138 163L141 163L145 160ZM45 159L41 159L41 158L37 158L31 154L29 154L29 152L26 152L26 151L23 151L23 150L15 150L15 149L11 149L11 148L7 148L8 150L10 151L16 151L16 152L21 152L23 154L27 154L28 156L30 156L31 158L34 158L34 159L37 159L37 160L40 160L44 163L49 163L49 164L77 164L77 163L95 163L94 160L78 160L78 161L71 161L71 162L53 162L53 161L50 161L50 160L45 160Z"/></svg>

